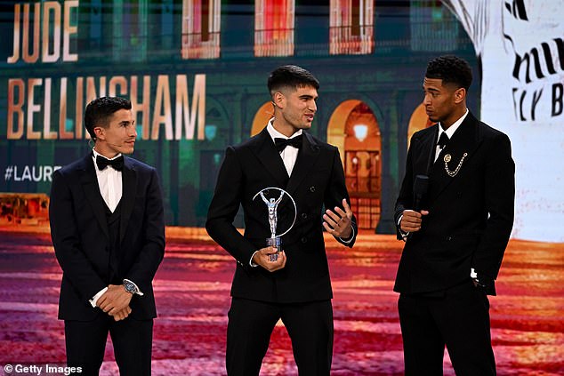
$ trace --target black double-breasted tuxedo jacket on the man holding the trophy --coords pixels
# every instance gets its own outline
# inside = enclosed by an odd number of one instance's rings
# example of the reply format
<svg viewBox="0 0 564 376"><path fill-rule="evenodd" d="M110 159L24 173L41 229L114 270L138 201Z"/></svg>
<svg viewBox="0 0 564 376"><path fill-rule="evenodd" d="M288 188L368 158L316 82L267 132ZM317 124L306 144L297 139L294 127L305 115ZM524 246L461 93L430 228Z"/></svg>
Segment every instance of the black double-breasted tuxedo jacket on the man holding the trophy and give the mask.
<svg viewBox="0 0 564 376"><path fill-rule="evenodd" d="M265 247L270 237L266 204L260 196L253 199L269 187L285 189L297 206L294 228L282 236L286 267L273 273L249 264L254 252ZM331 210L342 207L343 198L349 201L338 149L307 132L303 132L302 148L289 180L266 128L252 139L227 148L205 228L237 260L231 296L278 303L331 299L321 215L324 205ZM239 205L245 215L244 235L233 226ZM279 207L277 229L285 230L294 219L288 205L284 210ZM356 237L354 218L353 227ZM354 241L345 245L351 247Z"/></svg>

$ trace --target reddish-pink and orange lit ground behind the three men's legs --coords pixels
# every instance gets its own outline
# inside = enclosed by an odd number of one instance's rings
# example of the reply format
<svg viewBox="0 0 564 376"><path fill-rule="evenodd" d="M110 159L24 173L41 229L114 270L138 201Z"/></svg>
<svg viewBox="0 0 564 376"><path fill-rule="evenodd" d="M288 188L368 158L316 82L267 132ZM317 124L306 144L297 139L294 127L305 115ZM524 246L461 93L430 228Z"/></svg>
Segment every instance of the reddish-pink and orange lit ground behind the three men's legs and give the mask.
<svg viewBox="0 0 564 376"><path fill-rule="evenodd" d="M359 236L353 250L327 239L334 286L334 375L401 375L391 291L402 244ZM564 374L564 244L513 241L490 298L499 375ZM169 239L157 273L154 375L224 374L234 261L210 241ZM64 362L57 320L60 268L47 234L0 228L0 364ZM111 348L102 375L117 374ZM284 327L272 334L263 375L297 374ZM445 360L445 374L454 375Z"/></svg>

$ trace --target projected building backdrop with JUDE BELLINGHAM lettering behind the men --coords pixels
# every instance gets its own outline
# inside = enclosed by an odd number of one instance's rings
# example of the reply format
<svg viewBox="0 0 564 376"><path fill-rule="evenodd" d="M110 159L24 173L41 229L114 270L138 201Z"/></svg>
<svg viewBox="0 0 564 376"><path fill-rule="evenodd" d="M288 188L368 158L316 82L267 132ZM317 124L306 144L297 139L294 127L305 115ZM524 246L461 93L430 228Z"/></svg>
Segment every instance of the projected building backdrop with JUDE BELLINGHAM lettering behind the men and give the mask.
<svg viewBox="0 0 564 376"><path fill-rule="evenodd" d="M560 2L318 3L3 2L0 220L45 220L52 171L89 151L85 105L119 95L133 102L134 156L163 181L167 223L203 226L223 150L270 118L269 72L297 64L321 82L311 132L341 149L360 227L391 233L408 137L427 126L424 68L455 53L475 72L471 110L512 138L514 236L564 241Z"/></svg>

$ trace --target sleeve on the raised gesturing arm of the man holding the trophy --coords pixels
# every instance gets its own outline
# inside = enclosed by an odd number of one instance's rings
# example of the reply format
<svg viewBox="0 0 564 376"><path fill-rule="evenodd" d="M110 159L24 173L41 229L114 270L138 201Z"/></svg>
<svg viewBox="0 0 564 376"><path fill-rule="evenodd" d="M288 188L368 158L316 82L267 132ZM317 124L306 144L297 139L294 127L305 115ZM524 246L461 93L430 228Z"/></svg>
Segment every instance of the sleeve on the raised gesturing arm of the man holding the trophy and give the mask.
<svg viewBox="0 0 564 376"><path fill-rule="evenodd" d="M333 168L331 169L331 180L329 184L327 184L324 204L327 209L334 210L335 206L342 208L342 199L346 198L347 203L350 204L350 196L349 192L347 191L347 186L344 179L344 171L342 169L341 163L341 156L339 154L339 150L335 148L334 150L334 157L333 157ZM357 234L359 234L359 229L357 226L357 219L352 215L352 219L350 221L350 225L352 226L352 238L345 239L343 241L340 237L334 237L337 242L346 245L352 248L354 242L356 241Z"/></svg>

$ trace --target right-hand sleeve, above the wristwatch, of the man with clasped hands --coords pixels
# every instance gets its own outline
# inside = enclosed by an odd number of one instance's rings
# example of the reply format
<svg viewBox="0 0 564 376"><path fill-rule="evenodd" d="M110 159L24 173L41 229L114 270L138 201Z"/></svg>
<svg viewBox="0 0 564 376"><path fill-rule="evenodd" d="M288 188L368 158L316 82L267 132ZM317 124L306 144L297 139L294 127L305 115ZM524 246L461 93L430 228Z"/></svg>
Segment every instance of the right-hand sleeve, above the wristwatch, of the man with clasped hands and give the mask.
<svg viewBox="0 0 564 376"><path fill-rule="evenodd" d="M158 181L157 172L151 169L150 182L145 201L145 218L143 218L143 246L132 268L125 273L125 279L135 284L147 286L151 284L157 268L165 256L165 210L163 194ZM142 291L142 288L141 288Z"/></svg>

